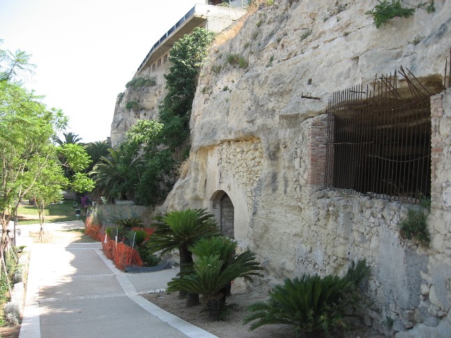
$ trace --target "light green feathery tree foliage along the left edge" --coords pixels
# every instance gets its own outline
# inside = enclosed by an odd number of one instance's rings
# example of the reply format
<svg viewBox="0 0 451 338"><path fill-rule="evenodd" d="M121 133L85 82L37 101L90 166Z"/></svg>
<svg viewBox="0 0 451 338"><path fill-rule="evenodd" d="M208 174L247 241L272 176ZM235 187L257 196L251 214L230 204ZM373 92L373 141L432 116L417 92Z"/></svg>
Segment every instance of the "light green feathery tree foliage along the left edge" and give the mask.
<svg viewBox="0 0 451 338"><path fill-rule="evenodd" d="M60 192L70 185L63 175L63 164L58 161L56 134L67 125L63 112L47 108L42 97L26 90L17 79L28 70L29 54L0 50L0 220L2 244L11 216L19 202L26 197L40 200L40 207L61 198ZM64 149L65 155L72 151ZM86 163L81 158L76 171ZM79 161L79 159L77 159ZM68 162L72 166L77 161ZM81 177L79 177L81 179ZM83 186L88 187L88 181ZM91 182L92 184L92 182Z"/></svg>

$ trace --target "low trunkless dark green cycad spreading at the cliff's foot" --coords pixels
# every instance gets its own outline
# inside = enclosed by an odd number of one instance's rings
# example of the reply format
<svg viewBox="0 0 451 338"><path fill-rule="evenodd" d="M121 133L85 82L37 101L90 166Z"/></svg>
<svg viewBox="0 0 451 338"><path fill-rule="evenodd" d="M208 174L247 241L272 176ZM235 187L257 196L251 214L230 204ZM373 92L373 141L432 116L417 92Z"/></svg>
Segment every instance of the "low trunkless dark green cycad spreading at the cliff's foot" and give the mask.
<svg viewBox="0 0 451 338"><path fill-rule="evenodd" d="M294 326L296 336L301 332L324 331L346 328L343 320L345 309L358 305L361 300L358 285L370 273L365 260L352 264L344 277L336 275L303 275L294 280L286 279L283 285L269 292L266 303L255 303L247 308L252 312L244 319L255 330L267 324Z"/></svg>

